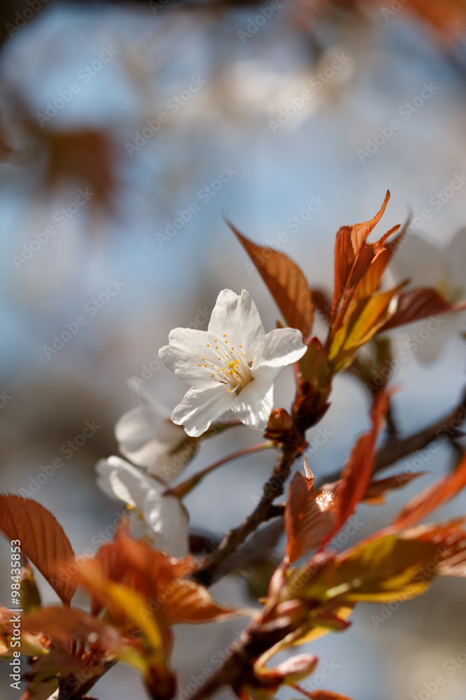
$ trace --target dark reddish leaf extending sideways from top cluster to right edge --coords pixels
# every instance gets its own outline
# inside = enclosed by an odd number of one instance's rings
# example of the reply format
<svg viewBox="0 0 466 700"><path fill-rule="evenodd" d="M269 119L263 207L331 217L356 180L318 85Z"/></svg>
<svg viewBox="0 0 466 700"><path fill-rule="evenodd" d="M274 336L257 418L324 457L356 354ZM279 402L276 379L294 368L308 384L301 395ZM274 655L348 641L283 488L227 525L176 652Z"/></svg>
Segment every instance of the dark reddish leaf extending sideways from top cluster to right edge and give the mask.
<svg viewBox="0 0 466 700"><path fill-rule="evenodd" d="M384 332L398 325L419 321L428 316L446 314L449 311L461 311L465 304L450 304L435 289L422 287L401 294L395 314L381 327L378 332Z"/></svg>

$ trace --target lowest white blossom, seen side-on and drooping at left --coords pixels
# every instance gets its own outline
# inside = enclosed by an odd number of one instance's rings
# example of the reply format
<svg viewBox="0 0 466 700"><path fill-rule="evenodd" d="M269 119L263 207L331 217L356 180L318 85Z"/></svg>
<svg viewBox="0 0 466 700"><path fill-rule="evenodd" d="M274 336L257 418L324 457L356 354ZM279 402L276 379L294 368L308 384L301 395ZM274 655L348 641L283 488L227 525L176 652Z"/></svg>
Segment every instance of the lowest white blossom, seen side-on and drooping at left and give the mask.
<svg viewBox="0 0 466 700"><path fill-rule="evenodd" d="M96 472L102 491L129 507L133 535L170 556L188 553L187 513L178 498L163 496L166 484L117 456L99 460Z"/></svg>

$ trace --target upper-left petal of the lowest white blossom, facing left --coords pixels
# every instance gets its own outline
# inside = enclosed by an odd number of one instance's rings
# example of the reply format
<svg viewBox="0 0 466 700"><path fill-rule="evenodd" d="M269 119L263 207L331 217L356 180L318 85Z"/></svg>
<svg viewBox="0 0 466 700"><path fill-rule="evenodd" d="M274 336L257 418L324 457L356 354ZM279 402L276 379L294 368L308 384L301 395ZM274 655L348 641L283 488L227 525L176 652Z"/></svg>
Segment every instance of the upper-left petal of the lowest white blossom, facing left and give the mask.
<svg viewBox="0 0 466 700"><path fill-rule="evenodd" d="M100 459L96 464L97 484L114 500L136 507L143 503L150 483L138 468L117 456Z"/></svg>

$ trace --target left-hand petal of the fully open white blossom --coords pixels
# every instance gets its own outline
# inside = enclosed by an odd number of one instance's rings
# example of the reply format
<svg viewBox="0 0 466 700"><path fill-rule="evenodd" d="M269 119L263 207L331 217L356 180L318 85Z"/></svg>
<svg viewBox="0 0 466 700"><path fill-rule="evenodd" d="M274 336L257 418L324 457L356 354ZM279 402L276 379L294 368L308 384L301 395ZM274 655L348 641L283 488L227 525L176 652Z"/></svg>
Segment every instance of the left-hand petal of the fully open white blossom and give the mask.
<svg viewBox="0 0 466 700"><path fill-rule="evenodd" d="M159 350L159 357L169 370L196 388L218 384L211 377L211 367L218 364L218 355L210 333L194 328L175 328L168 341L169 344Z"/></svg>

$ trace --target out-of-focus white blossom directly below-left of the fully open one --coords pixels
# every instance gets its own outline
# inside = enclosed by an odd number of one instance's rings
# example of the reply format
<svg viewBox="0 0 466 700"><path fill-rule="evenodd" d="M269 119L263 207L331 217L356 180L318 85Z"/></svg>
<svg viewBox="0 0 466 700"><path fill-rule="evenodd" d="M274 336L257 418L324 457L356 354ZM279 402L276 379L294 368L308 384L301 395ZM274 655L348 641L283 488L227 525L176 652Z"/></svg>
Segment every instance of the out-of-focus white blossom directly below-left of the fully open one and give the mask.
<svg viewBox="0 0 466 700"><path fill-rule="evenodd" d="M115 426L119 451L147 472L168 484L197 450L196 440L175 426L170 411L144 388L134 386L140 404L122 415Z"/></svg>

